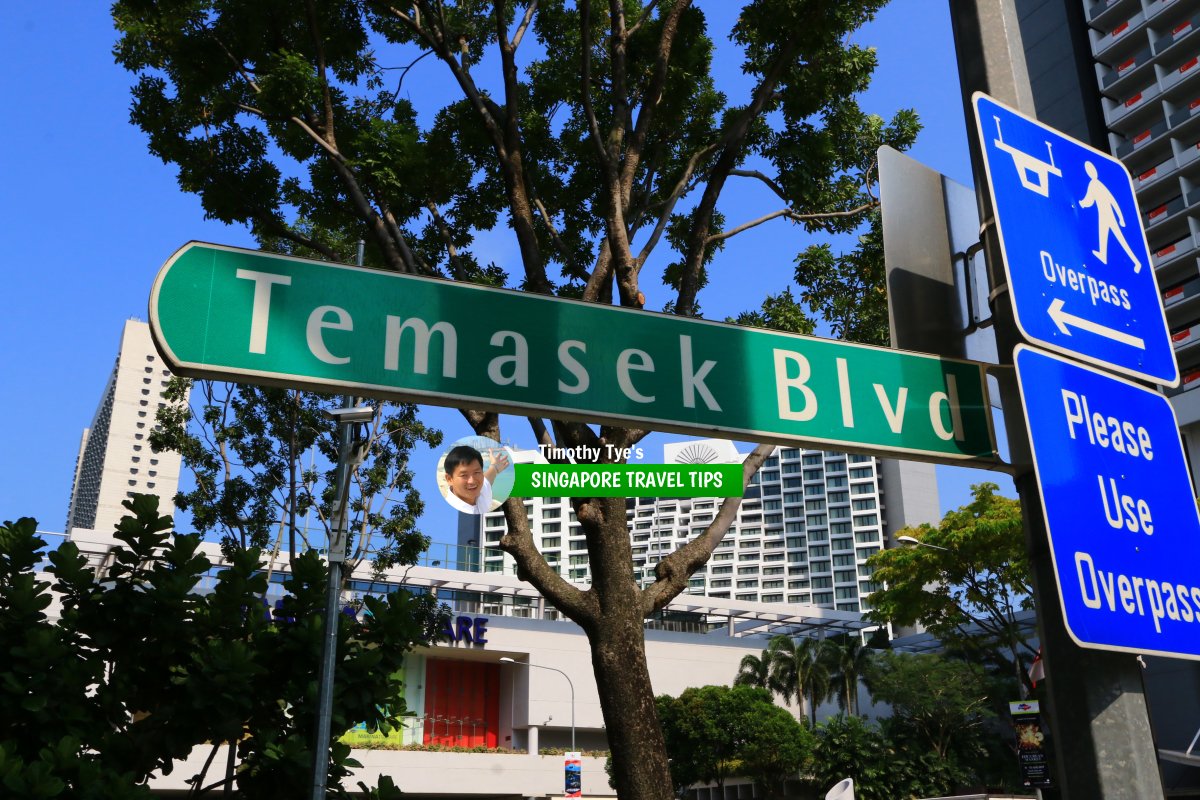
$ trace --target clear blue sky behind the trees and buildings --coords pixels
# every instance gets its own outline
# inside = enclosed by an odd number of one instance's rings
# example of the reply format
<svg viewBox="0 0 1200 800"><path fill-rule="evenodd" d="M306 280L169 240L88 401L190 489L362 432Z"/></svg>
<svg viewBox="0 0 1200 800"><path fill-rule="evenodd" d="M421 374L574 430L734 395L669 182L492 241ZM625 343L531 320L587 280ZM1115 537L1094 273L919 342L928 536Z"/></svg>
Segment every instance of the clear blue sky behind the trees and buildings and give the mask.
<svg viewBox="0 0 1200 800"><path fill-rule="evenodd" d="M734 6L700 5L715 14ZM863 107L884 118L914 108L924 132L910 155L970 184L946 0L894 0L856 38L880 56ZM79 435L104 387L122 321L146 318L158 267L190 240L253 247L245 230L205 221L197 198L179 191L174 170L146 152L143 133L128 124L132 78L113 64L114 42L107 4L71 4L64 13L18 5L0 26L2 52L20 65L0 86L4 106L17 112L4 136L8 178L0 194L10 287L0 318L0 518L32 516L50 531L62 529ZM736 68L725 68L721 80L736 96ZM757 201L746 201L746 218ZM701 295L706 315L724 318L778 291L806 243L786 223L732 240ZM498 239L488 255L504 263L509 247ZM647 294L652 307L661 307ZM469 433L455 413L433 410L430 420L448 440ZM518 443L529 435L527 426L508 433ZM656 457L652 444L647 458ZM432 457L426 461L432 465ZM995 479L938 468L943 509L965 503L970 483ZM430 506L426 531L448 539L452 521L436 495L432 468L422 470L419 488Z"/></svg>

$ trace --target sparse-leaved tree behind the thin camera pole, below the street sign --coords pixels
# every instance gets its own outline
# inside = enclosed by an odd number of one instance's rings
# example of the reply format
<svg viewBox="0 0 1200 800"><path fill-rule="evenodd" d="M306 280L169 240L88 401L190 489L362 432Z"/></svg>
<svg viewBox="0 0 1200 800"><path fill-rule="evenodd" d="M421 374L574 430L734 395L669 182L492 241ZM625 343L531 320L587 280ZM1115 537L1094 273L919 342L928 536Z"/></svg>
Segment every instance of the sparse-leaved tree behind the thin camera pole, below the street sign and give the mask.
<svg viewBox="0 0 1200 800"><path fill-rule="evenodd" d="M187 404L190 392L193 397ZM300 552L296 519L301 515L314 513L328 539L338 434L325 411L341 401L186 378L173 378L164 397L174 402L158 409L150 446L179 452L191 469L194 486L176 494L175 505L191 512L198 533L220 535L227 557L247 547L277 554L287 534L289 563ZM416 419L416 407L410 404L378 403L373 419L362 427L365 458L350 473L346 576L368 557L377 571L413 564L428 547L428 537L416 527L424 503L413 487L408 456L419 443L436 447L442 441L438 431ZM320 452L320 468L313 451ZM299 535L302 547L311 546L304 531Z"/></svg>

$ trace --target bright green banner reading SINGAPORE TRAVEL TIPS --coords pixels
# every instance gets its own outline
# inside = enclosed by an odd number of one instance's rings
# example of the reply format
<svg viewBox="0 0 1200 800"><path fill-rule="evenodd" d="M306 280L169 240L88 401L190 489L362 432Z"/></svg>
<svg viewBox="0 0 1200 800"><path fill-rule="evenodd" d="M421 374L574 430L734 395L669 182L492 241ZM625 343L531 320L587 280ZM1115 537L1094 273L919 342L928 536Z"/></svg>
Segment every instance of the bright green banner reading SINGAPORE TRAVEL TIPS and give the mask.
<svg viewBox="0 0 1200 800"><path fill-rule="evenodd" d="M517 498L739 498L742 464L515 464Z"/></svg>

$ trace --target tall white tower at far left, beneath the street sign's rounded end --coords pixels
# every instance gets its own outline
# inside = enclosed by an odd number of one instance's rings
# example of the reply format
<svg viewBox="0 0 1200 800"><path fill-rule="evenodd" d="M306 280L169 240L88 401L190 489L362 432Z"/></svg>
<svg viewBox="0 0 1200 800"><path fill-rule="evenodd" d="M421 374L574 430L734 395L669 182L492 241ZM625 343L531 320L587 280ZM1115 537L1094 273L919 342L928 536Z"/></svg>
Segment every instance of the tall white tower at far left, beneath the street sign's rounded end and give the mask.
<svg viewBox="0 0 1200 800"><path fill-rule="evenodd" d="M125 323L116 363L91 425L84 429L76 459L66 531L94 530L112 537L121 503L134 493L157 494L158 509L170 513L179 486L180 456L151 452L155 414L166 405L163 389L170 379L150 338L150 326Z"/></svg>

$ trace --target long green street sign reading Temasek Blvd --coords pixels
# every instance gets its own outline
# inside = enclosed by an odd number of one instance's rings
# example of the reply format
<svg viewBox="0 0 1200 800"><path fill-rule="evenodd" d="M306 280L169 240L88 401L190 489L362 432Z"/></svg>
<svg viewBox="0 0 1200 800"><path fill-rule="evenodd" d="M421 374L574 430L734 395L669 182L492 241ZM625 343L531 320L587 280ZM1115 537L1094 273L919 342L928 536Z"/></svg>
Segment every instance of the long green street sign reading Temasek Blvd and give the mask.
<svg viewBox="0 0 1200 800"><path fill-rule="evenodd" d="M970 361L200 242L150 329L181 375L995 463Z"/></svg>

